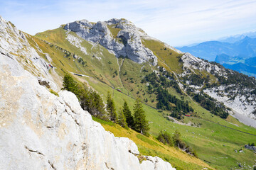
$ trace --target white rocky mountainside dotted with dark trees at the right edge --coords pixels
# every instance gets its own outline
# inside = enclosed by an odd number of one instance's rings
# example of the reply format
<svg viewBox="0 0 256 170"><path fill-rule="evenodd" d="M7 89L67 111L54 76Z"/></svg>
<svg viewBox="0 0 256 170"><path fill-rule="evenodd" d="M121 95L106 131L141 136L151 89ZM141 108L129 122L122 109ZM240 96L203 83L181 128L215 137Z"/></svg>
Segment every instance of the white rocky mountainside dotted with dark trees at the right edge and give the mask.
<svg viewBox="0 0 256 170"><path fill-rule="evenodd" d="M183 62L186 63L185 69L193 68L206 71L206 79L201 82L193 83L193 79L191 79L191 81L188 81L187 78L184 79L186 84L183 84L183 87L186 88L187 91L197 91L196 93L203 91L205 94L208 94L227 106L231 113L233 111L235 114L247 115L247 117L252 118L252 120L248 120L247 118L242 120L240 118L240 121L255 127L255 120L253 120L256 118L256 103L253 92L256 85L255 78L247 77L244 74L239 74L230 69L225 69L220 64L209 63L199 59L195 60L195 57L189 54L183 55L182 59ZM209 73L214 76L215 79L210 78ZM193 76L193 74L193 70L188 69L183 73L182 77L187 77L187 75ZM203 76L203 74L201 74L201 76ZM202 77L199 77L199 79L200 78L202 79Z"/></svg>

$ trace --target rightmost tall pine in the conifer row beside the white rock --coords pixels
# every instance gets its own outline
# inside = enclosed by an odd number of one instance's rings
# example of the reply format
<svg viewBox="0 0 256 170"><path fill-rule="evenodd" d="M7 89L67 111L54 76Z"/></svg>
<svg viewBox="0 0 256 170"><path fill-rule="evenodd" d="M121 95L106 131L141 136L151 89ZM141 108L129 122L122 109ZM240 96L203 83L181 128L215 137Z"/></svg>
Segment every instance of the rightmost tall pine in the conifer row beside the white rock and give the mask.
<svg viewBox="0 0 256 170"><path fill-rule="evenodd" d="M134 130L143 135L149 135L149 122L146 120L145 111L139 98L137 98L134 105Z"/></svg>

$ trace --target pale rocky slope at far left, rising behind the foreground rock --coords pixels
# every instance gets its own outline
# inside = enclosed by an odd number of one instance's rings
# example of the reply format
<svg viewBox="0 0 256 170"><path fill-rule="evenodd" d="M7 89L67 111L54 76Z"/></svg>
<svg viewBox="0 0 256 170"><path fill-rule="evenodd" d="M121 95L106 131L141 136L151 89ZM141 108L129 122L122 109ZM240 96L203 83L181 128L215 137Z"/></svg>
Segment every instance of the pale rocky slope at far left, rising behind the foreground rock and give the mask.
<svg viewBox="0 0 256 170"><path fill-rule="evenodd" d="M29 35L28 35L29 36ZM36 44L36 42L35 42ZM41 50L41 49L37 49ZM41 50L42 51L42 50ZM48 63L41 59L38 52L28 43L26 35L18 30L11 23L0 16L0 53L9 57L22 57L26 62L20 63L27 67L33 74L46 77L49 81L53 78L48 74ZM50 59L48 54L44 54ZM26 59L25 59L26 58ZM56 86L54 90L58 89Z"/></svg>

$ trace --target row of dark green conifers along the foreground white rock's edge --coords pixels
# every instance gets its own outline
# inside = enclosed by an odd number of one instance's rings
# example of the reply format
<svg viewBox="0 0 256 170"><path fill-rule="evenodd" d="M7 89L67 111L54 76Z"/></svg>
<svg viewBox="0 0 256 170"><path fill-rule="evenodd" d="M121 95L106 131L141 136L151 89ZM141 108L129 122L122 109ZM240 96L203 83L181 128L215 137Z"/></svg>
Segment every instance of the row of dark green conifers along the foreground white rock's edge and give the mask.
<svg viewBox="0 0 256 170"><path fill-rule="evenodd" d="M143 135L149 135L149 122L146 120L145 111L139 98L134 103L134 114L132 115L127 101L124 101L122 108L117 111L114 100L108 91L105 107L101 96L96 91L88 88L86 84L78 84L69 74L64 76L63 89L73 92L78 97L82 109L96 118L110 120L123 128L129 127Z"/></svg>

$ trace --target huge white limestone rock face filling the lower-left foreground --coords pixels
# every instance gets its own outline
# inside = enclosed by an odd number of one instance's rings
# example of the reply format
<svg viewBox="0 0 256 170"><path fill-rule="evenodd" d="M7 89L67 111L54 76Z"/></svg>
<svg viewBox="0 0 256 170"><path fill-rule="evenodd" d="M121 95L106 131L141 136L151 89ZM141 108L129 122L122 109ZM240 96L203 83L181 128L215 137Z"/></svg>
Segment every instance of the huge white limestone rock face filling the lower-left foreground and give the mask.
<svg viewBox="0 0 256 170"><path fill-rule="evenodd" d="M0 42L6 42L0 44L0 169L173 169L158 157L139 164L134 142L106 132L82 110L74 94L60 91L55 96L41 86L16 55L7 55L11 50L20 54L22 48L11 47L13 42L0 33ZM35 63L43 62L36 52L28 54L33 56L38 57ZM38 64L38 72L42 69L47 74L47 67Z"/></svg>

